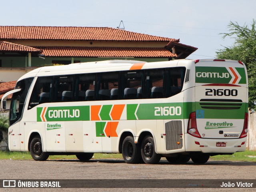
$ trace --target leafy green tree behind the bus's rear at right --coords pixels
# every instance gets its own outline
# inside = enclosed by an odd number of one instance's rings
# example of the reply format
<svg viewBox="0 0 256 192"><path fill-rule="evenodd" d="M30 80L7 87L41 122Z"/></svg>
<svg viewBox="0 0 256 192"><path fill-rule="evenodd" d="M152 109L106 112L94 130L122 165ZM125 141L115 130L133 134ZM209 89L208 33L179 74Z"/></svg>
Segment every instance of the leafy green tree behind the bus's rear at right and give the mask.
<svg viewBox="0 0 256 192"><path fill-rule="evenodd" d="M222 59L240 60L246 64L249 85L248 105L250 109L256 110L256 20L253 19L249 27L231 21L228 28L228 33L222 33L223 38L234 38L234 44L218 50L216 56Z"/></svg>

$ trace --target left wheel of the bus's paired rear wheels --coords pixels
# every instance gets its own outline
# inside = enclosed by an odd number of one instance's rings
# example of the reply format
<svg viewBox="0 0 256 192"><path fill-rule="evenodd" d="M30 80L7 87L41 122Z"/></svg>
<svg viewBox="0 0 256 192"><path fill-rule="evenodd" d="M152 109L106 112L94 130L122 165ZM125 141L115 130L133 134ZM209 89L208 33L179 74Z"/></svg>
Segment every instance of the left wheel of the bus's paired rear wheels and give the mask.
<svg viewBox="0 0 256 192"><path fill-rule="evenodd" d="M127 136L124 139L122 155L126 163L136 164L141 162L140 146L134 143L132 136Z"/></svg>

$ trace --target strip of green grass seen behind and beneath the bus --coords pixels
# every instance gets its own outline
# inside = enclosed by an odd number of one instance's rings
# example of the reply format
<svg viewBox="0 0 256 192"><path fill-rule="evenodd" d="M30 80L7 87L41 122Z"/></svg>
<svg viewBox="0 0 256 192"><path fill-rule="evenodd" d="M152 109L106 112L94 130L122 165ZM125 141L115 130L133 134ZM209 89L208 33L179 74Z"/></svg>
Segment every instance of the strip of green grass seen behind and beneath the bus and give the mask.
<svg viewBox="0 0 256 192"><path fill-rule="evenodd" d="M95 153L93 159L122 159L122 154L106 154ZM0 159L12 159L12 160L32 160L30 152L10 152L0 151ZM75 155L52 155L48 160L65 160L65 159L77 159ZM227 160L227 161L247 161L256 162L256 151L246 150L244 152L236 152L233 155L217 155L210 157L211 160Z"/></svg>

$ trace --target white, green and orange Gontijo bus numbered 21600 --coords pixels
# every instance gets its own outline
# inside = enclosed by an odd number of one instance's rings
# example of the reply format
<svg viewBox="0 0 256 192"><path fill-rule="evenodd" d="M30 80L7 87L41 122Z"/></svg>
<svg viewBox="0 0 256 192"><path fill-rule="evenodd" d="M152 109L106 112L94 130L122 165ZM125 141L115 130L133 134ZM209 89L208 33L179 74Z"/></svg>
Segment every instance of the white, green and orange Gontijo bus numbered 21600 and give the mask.
<svg viewBox="0 0 256 192"><path fill-rule="evenodd" d="M34 160L122 153L127 163L205 163L246 149L248 80L234 60L112 60L22 76L10 106L10 151Z"/></svg>

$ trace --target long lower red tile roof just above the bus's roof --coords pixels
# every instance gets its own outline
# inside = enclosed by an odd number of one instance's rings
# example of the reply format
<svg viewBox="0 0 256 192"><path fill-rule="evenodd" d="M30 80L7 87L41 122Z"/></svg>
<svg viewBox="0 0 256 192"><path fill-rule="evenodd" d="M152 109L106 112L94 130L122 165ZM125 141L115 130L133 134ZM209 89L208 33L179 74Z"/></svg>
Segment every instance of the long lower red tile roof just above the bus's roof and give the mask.
<svg viewBox="0 0 256 192"><path fill-rule="evenodd" d="M139 47L70 47L47 46L42 49L46 57L134 57L134 58L170 58L177 57L165 48Z"/></svg>

